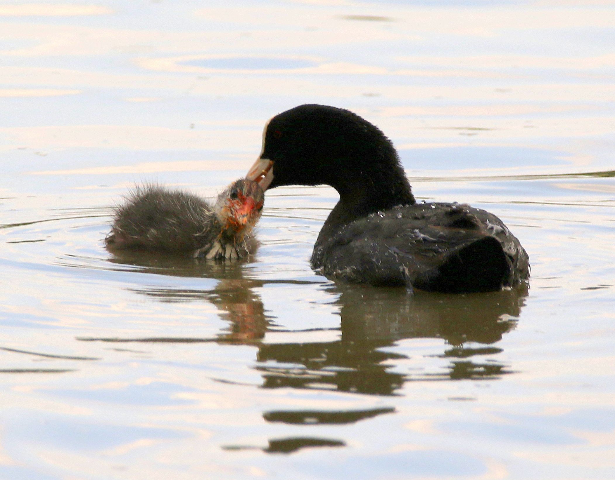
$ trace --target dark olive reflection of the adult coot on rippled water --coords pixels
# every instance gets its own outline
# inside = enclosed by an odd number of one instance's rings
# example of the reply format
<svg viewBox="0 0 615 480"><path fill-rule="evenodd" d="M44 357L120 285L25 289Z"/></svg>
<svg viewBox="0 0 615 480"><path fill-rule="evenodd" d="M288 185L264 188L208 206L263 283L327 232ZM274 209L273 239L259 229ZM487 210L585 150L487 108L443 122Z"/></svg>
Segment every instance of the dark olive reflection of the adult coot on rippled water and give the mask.
<svg viewBox="0 0 615 480"><path fill-rule="evenodd" d="M325 343L260 345L257 358L268 362L258 366L263 372L263 387L335 388L394 395L404 382L415 378L392 371L395 360L408 357L385 347L416 338L446 340L450 348L440 356L451 358L448 372L422 372L416 379L485 379L510 372L502 363L471 360L499 353L500 348L464 345L494 344L514 328L526 287L467 295L408 295L398 288L356 285L336 285L330 291L339 294L341 338ZM276 368L271 361L303 368Z"/></svg>

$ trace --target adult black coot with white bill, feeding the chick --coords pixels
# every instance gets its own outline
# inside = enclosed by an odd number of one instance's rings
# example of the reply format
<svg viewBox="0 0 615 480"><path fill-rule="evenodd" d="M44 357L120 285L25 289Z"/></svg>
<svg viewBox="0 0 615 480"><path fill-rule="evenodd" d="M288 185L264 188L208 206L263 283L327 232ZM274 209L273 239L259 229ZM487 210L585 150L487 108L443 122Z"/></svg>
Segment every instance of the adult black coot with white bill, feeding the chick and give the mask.
<svg viewBox="0 0 615 480"><path fill-rule="evenodd" d="M247 178L265 190L326 184L338 191L311 259L327 277L469 293L530 276L528 254L495 215L416 203L391 141L350 111L308 104L273 117Z"/></svg>

